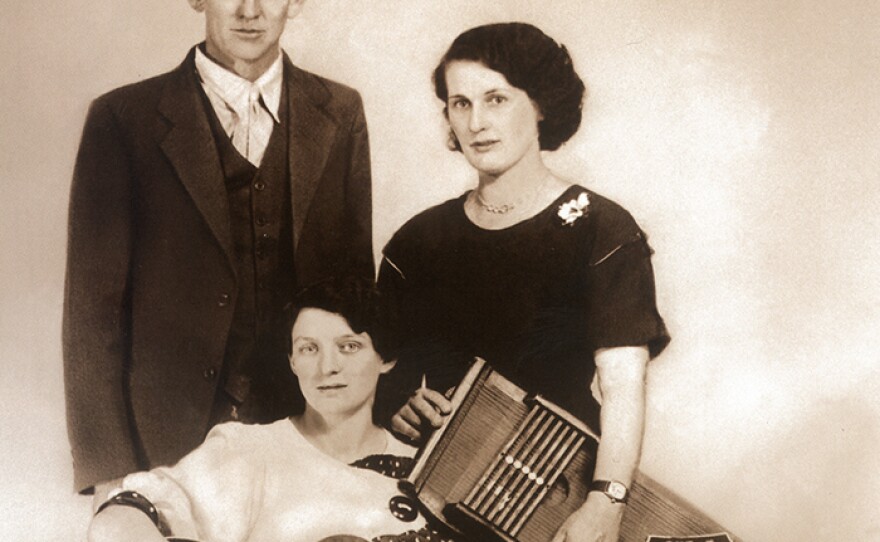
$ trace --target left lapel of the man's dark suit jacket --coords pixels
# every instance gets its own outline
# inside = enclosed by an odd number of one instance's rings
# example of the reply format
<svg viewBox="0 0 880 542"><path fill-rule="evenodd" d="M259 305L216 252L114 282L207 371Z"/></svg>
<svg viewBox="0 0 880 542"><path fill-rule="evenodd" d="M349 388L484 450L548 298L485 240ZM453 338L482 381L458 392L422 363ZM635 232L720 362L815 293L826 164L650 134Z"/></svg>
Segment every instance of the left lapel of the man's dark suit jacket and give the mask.
<svg viewBox="0 0 880 542"><path fill-rule="evenodd" d="M217 146L197 86L194 58L195 48L163 91L159 111L171 122L171 128L161 147L235 270L229 200Z"/></svg>

